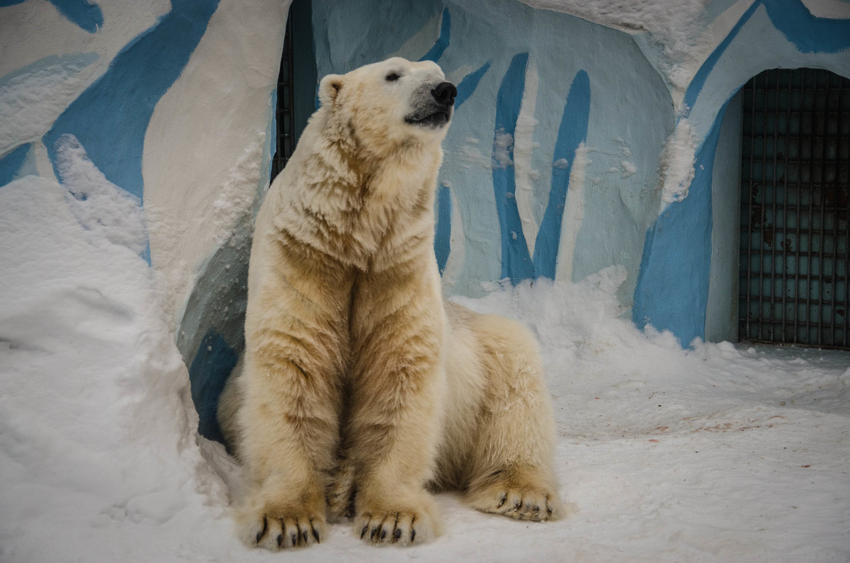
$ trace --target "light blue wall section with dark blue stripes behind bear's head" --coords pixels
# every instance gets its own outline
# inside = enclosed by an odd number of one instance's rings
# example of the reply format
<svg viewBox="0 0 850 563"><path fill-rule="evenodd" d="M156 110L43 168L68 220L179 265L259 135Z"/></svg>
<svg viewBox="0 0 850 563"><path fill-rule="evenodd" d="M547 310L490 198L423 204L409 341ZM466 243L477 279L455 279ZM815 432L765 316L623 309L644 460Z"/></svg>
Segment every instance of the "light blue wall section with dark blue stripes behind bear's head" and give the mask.
<svg viewBox="0 0 850 563"><path fill-rule="evenodd" d="M621 299L631 304L643 233L660 204L658 156L675 117L664 80L632 36L516 0L486 9L451 1L360 4L314 3L320 76L391 55L439 54L458 84L439 181L460 211L450 247L462 247L464 258L449 262L446 291L478 295L503 278L568 271L581 279L624 264L630 276ZM516 141L503 152L494 151L500 131ZM589 159L581 225L564 225L581 143ZM561 264L567 226L577 231L575 259Z"/></svg>

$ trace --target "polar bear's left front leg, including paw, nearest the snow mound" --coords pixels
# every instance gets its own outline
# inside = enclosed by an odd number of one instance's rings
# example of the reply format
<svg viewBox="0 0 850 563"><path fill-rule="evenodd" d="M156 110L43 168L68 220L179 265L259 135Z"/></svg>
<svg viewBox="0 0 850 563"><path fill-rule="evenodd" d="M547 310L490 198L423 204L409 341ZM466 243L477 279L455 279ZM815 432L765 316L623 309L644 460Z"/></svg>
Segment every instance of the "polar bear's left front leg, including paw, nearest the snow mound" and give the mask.
<svg viewBox="0 0 850 563"><path fill-rule="evenodd" d="M257 302L239 413L248 487L235 520L248 545L302 547L325 534L347 335L331 314L340 305L315 294L278 288Z"/></svg>

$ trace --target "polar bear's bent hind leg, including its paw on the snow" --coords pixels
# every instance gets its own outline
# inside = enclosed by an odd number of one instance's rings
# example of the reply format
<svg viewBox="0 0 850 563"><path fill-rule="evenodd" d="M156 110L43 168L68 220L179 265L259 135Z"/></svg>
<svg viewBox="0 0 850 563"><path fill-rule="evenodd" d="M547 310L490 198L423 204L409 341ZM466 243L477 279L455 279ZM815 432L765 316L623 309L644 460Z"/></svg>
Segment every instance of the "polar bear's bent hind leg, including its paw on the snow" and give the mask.
<svg viewBox="0 0 850 563"><path fill-rule="evenodd" d="M487 383L465 498L473 508L519 520L563 514L554 475L555 428L536 340L500 316L474 316Z"/></svg>

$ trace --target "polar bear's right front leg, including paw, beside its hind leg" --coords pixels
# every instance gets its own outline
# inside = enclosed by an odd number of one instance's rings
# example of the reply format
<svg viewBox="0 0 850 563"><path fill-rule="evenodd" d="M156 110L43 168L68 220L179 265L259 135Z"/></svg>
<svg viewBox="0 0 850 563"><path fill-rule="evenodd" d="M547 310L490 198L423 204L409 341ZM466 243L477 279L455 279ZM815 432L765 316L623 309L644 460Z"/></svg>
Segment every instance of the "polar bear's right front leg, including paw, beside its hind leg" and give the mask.
<svg viewBox="0 0 850 563"><path fill-rule="evenodd" d="M445 311L439 276L422 270L355 285L348 455L358 473L354 533L370 543L439 533L426 485L442 429Z"/></svg>

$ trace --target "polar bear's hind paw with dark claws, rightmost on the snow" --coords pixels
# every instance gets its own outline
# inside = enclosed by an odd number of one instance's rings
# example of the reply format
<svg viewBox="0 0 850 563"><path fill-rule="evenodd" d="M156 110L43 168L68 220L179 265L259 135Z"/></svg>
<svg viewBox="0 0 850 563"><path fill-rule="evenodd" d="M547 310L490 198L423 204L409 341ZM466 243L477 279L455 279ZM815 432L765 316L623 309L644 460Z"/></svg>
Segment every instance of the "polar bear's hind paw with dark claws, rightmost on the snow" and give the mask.
<svg viewBox="0 0 850 563"><path fill-rule="evenodd" d="M467 501L474 509L517 520L558 520L564 513L557 492L546 486L499 481L467 492Z"/></svg>

